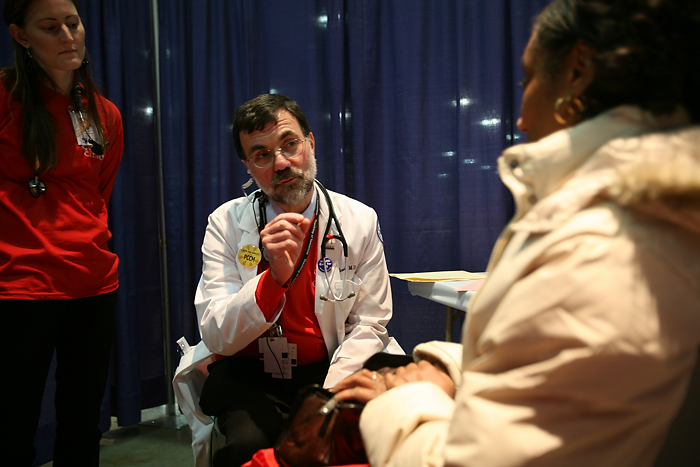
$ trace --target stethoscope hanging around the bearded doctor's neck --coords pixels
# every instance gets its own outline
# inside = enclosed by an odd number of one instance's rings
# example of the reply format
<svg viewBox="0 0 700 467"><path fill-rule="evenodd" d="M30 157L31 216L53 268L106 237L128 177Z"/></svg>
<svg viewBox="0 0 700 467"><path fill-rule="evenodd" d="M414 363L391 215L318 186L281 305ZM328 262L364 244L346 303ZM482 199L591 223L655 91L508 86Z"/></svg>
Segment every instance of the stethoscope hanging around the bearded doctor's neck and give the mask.
<svg viewBox="0 0 700 467"><path fill-rule="evenodd" d="M249 196L245 190L246 188L250 187L253 184L253 179L251 178L248 180L245 184L241 186L243 188L243 194L245 195L246 198L250 201L251 205L253 206L253 216L255 218L255 223L258 226L258 232L261 232L265 226L267 225L267 214L266 214L266 206L267 203L269 202L269 199L267 195L262 191L262 190L257 190L254 193ZM328 302L342 302L343 300L347 300L348 298L352 298L355 296L355 292L353 290L353 286L359 286L362 284L362 281L359 278L356 278L356 280L348 279L348 243L345 240L345 235L343 234L343 230L340 227L340 222L338 222L338 217L335 215L335 209L333 207L333 202L331 201L331 197L328 194L328 190L319 182L318 180L314 179L314 184L318 187L319 191L323 193L324 198L326 199L326 203L328 204L328 222L326 223L326 228L323 232L323 236L321 237L321 262L319 263L319 270L321 270L326 278L326 294L322 294L319 298L324 301ZM258 209L257 209L257 214L255 213L255 203L257 201L258 204ZM304 254L301 258L300 261L297 262L297 267L295 268L294 272L292 273L292 278L291 282L294 282L294 280L297 278L299 273L301 272L301 269L304 267L304 264L306 263L306 259L308 258L309 255L309 250L311 248L311 245L313 244L313 239L314 236L316 235L316 232L318 230L318 223L319 223L319 214L320 214L320 205L321 201L319 199L316 200L316 211L314 215L314 221L311 225L311 238L307 242L307 247L306 250L304 251ZM335 224L335 229L334 232L331 232L331 226ZM331 276L329 276L329 272L332 271L332 263L330 262L330 259L327 258L326 256L326 249L332 249L332 247L328 247L329 242L332 240L338 240L341 245L343 246L343 257L344 257L344 265L341 268L340 264L337 265L337 269L339 272L343 273L343 279L341 281L336 281L337 283L340 283L340 286L338 287L333 287L333 283L331 282ZM260 251L262 255L267 259L267 253L265 252L265 249L262 246L262 243L260 243ZM326 260L328 259L328 262ZM290 283L291 283L290 282ZM338 292L338 293L337 293Z"/></svg>

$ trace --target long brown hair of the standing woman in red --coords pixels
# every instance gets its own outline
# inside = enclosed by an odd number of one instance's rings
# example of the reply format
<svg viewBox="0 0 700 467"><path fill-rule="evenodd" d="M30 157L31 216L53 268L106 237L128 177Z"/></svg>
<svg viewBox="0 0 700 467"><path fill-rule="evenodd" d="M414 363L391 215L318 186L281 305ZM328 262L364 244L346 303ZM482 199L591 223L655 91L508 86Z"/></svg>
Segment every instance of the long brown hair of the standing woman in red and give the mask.
<svg viewBox="0 0 700 467"><path fill-rule="evenodd" d="M71 0L80 15L77 0ZM9 27L11 24L23 28L27 9L34 0L5 0L4 19ZM51 77L31 58L28 49L13 40L15 51L15 66L0 70L0 80L7 89L10 99L14 99L22 108L22 152L32 172L55 169L58 164L58 148L56 134L51 117L41 99L41 83L49 83L54 90L58 86ZM87 51L85 52L87 58ZM84 60L74 74L74 86L81 82L82 93L87 98L87 114L95 124L95 130L102 146L108 143L105 139L104 127L97 110L99 92L92 79L89 60ZM80 76L80 80L78 80ZM88 120L89 121L89 120Z"/></svg>

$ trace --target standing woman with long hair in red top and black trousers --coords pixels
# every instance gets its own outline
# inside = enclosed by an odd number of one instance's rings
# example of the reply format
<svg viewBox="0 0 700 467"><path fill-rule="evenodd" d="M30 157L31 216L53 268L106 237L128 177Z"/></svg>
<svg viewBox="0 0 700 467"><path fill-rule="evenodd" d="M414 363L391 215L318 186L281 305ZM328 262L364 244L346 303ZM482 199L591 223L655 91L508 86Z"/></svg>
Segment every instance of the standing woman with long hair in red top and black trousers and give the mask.
<svg viewBox="0 0 700 467"><path fill-rule="evenodd" d="M54 465L98 465L118 258L107 205L119 110L96 90L75 0L6 0L15 66L0 70L0 310L12 349L4 452L31 465L54 351ZM6 380L7 381L7 380Z"/></svg>

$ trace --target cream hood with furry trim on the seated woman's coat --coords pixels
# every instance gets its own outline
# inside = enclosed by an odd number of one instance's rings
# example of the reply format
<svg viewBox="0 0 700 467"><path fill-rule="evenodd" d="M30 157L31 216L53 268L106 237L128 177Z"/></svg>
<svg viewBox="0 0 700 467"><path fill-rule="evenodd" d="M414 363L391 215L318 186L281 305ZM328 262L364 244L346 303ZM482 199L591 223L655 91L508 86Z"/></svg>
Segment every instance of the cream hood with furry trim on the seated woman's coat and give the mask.
<svg viewBox="0 0 700 467"><path fill-rule="evenodd" d="M610 200L700 233L700 127L687 122L682 110L659 118L624 106L508 149L499 170L517 206L510 227L551 231Z"/></svg>

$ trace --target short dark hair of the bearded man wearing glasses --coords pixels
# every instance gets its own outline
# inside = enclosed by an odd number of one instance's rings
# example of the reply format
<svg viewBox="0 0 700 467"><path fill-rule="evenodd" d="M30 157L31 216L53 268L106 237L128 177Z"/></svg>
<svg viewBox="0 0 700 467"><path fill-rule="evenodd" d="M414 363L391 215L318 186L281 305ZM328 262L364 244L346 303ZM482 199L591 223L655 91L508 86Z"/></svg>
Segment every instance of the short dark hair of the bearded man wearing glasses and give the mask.
<svg viewBox="0 0 700 467"><path fill-rule="evenodd" d="M277 121L277 115L281 110L292 114L299 122L304 136L309 136L311 127L296 101L284 94L260 94L241 105L233 118L233 144L236 146L238 157L246 160L241 145L241 132L252 133L262 130L268 123Z"/></svg>

